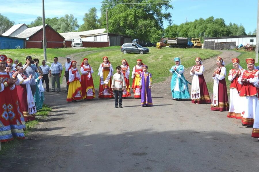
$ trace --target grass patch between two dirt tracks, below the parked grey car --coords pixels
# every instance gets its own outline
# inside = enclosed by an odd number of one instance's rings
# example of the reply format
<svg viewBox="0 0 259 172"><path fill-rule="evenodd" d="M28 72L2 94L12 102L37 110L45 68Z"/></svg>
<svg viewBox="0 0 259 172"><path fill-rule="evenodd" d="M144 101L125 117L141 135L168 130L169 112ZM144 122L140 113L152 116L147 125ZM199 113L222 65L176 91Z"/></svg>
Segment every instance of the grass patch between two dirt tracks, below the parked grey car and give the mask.
<svg viewBox="0 0 259 172"><path fill-rule="evenodd" d="M107 56L109 61L113 65L113 69L116 69L116 66L121 65L121 60L126 59L129 63L131 73L132 69L136 65L137 59L142 59L142 62L148 65L148 71L152 73L152 82L161 82L164 81L171 74L169 69L175 65L174 57L181 58L181 64L184 67L191 67L194 65L194 59L196 56L201 57L202 59L207 59L213 56L220 54L220 51L208 50L208 49L199 49L199 48L162 48L157 49L155 47L150 47L150 52L148 54L123 54L120 52L120 49L111 51L101 51L89 54L83 58L88 58L89 64L94 69L93 79L94 86L96 89L99 88L99 76L97 76L98 68L102 62L102 57ZM81 63L81 62L80 62ZM130 83L132 79L130 78Z"/></svg>

